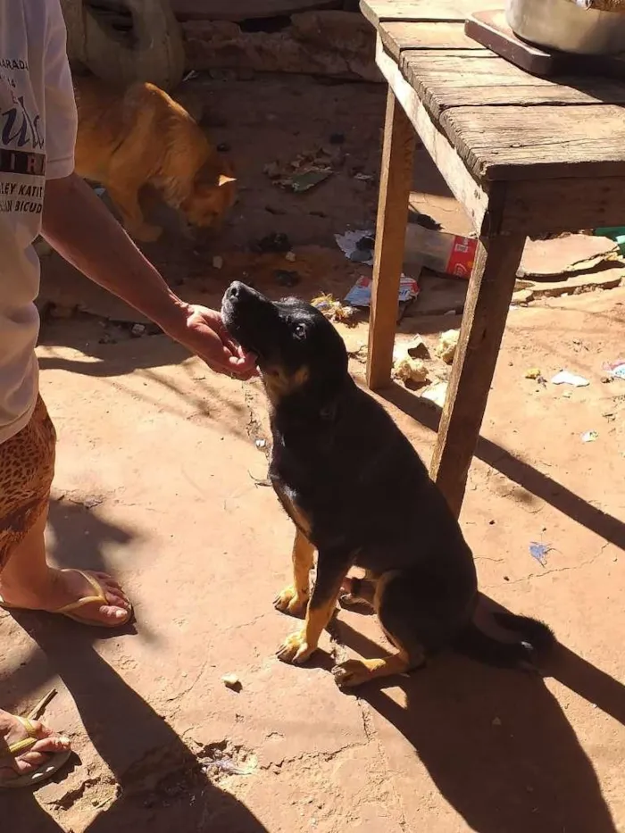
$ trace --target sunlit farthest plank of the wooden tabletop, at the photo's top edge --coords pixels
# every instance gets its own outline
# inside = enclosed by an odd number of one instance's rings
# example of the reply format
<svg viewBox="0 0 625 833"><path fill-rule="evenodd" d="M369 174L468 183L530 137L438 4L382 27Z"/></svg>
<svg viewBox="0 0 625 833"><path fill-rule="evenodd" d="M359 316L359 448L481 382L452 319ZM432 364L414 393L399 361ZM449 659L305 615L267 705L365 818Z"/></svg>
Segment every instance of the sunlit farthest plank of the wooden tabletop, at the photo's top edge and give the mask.
<svg viewBox="0 0 625 833"><path fill-rule="evenodd" d="M503 0L479 0L479 10L501 8ZM361 0L362 14L376 29L382 21L463 23L475 0Z"/></svg>

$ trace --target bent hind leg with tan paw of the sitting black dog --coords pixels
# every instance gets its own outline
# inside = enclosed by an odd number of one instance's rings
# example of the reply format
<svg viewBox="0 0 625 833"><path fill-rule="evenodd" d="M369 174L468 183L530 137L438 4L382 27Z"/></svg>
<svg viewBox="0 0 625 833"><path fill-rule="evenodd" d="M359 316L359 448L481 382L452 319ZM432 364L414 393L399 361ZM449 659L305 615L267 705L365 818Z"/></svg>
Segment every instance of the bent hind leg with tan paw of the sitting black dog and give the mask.
<svg viewBox="0 0 625 833"><path fill-rule="evenodd" d="M332 669L338 686L354 687L371 679L389 677L391 674L404 674L420 668L425 663L422 646L413 633L412 621L408 609L385 605L384 596L393 579L400 579L399 571L384 573L375 587L372 604L378 613L379 623L388 639L397 648L396 654L390 654L372 660L347 660Z"/></svg>

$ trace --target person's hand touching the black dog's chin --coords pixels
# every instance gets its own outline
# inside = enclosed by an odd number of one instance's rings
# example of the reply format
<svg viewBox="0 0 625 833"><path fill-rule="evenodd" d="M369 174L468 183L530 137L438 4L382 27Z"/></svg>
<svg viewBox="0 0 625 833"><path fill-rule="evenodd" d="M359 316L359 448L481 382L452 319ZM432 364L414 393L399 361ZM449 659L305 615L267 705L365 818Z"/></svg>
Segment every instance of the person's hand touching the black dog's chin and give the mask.
<svg viewBox="0 0 625 833"><path fill-rule="evenodd" d="M237 379L250 379L258 373L256 356L233 341L219 312L198 304L184 304L181 320L166 331L216 373Z"/></svg>

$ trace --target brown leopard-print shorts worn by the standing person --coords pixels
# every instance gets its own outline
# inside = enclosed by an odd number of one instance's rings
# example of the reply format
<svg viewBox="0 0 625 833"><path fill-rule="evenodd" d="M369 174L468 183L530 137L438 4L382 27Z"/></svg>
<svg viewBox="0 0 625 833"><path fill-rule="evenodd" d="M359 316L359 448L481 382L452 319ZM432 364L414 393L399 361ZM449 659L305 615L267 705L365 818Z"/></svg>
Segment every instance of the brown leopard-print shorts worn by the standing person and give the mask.
<svg viewBox="0 0 625 833"><path fill-rule="evenodd" d="M0 444L0 570L45 512L56 431L41 396L28 425Z"/></svg>

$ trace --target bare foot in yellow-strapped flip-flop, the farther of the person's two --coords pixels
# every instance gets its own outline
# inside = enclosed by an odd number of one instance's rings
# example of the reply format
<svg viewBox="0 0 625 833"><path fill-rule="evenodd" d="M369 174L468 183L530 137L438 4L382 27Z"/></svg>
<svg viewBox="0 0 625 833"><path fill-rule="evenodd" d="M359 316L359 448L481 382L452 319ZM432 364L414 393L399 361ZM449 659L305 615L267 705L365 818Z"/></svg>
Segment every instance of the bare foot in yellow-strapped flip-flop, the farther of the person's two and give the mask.
<svg viewBox="0 0 625 833"><path fill-rule="evenodd" d="M119 628L129 621L132 605L120 585L104 572L86 571L102 587L106 604L91 602L72 611L72 615L87 624ZM95 590L77 570L57 570L48 567L46 579L37 587L24 587L12 580L11 562L0 575L0 596L4 603L26 610L55 612L66 604L95 596Z"/></svg>

